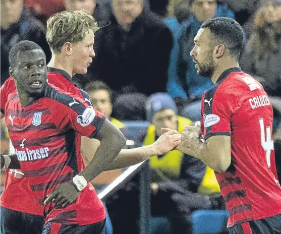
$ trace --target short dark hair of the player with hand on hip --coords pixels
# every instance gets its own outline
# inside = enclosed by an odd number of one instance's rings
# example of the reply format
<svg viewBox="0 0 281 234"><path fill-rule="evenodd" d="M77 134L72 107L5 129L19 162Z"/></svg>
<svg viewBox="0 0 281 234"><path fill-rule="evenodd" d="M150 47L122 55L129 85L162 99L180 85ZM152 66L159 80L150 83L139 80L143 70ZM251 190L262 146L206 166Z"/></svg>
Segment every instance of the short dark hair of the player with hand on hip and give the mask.
<svg viewBox="0 0 281 234"><path fill-rule="evenodd" d="M33 49L40 49L44 53L44 50L33 41L25 40L25 41L20 41L17 44L15 44L9 52L10 67L11 68L15 67L18 52L24 52L24 51L29 51L29 50L33 50Z"/></svg>

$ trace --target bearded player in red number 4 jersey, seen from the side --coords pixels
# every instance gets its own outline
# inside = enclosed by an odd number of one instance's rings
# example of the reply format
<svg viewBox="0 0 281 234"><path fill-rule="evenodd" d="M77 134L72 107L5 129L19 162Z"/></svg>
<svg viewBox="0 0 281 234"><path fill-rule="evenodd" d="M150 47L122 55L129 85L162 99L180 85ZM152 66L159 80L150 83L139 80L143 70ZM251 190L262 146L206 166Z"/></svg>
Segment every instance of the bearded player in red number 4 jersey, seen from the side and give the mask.
<svg viewBox="0 0 281 234"><path fill-rule="evenodd" d="M231 234L281 233L272 105L239 67L243 30L233 19L214 18L201 25L194 43L197 73L214 84L202 96L201 127L186 126L178 149L216 171Z"/></svg>

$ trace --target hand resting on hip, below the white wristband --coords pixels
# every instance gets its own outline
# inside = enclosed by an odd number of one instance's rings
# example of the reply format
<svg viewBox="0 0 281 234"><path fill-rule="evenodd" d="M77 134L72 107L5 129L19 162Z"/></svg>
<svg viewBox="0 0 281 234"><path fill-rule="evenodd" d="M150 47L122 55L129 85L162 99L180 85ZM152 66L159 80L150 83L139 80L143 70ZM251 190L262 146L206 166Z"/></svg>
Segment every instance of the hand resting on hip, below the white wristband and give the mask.
<svg viewBox="0 0 281 234"><path fill-rule="evenodd" d="M65 208L75 202L80 193L81 192L78 192L75 188L75 184L72 181L68 181L48 194L47 199L44 201L44 205L53 202L55 203L56 208Z"/></svg>

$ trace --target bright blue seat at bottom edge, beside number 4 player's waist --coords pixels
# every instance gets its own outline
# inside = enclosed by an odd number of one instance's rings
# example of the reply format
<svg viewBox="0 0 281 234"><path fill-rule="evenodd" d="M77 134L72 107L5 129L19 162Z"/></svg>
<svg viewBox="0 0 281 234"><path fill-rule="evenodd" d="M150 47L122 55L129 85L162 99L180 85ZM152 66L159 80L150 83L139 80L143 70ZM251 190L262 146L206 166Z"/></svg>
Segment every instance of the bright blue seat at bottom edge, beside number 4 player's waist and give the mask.
<svg viewBox="0 0 281 234"><path fill-rule="evenodd" d="M194 211L191 214L192 233L220 233L228 231L228 219L229 212L227 210Z"/></svg>

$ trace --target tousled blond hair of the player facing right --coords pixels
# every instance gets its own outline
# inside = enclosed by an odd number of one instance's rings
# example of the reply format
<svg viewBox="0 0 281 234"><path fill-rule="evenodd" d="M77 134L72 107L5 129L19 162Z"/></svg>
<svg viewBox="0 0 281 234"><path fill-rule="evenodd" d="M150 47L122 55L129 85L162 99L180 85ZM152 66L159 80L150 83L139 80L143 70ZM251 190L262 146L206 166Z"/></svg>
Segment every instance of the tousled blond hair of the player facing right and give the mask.
<svg viewBox="0 0 281 234"><path fill-rule="evenodd" d="M66 42L83 41L90 29L95 33L99 27L86 11L64 11L48 19L46 39L53 52L60 52Z"/></svg>

